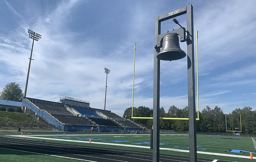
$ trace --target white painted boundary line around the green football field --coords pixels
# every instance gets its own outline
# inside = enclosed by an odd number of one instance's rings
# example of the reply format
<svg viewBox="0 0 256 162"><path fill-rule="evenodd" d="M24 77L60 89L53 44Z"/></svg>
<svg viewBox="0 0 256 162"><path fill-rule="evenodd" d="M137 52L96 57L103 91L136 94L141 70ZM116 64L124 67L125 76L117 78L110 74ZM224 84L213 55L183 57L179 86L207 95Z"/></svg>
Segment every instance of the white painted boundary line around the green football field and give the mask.
<svg viewBox="0 0 256 162"><path fill-rule="evenodd" d="M95 134L91 134L91 135L95 135ZM98 134L98 135L102 135L102 134ZM104 134L104 135L106 135L106 134ZM112 135L114 135L114 134L112 134ZM133 134L131 134L131 135L133 135ZM36 138L36 139L42 139L42 140L56 140L56 141L89 143L89 141L76 141L76 140L34 137L34 136L43 136L43 135L33 135L33 136L32 135L23 135L23 136L21 136L21 135L8 135L8 136L24 137L24 138ZM44 136L56 136L56 135L44 135ZM63 135L61 135L61 136L63 136ZM77 136L77 135L69 135L69 136ZM137 145L128 145L128 144L113 144L113 143L104 143L104 142L91 142L91 143L92 144L104 144L104 145L115 145L115 146L125 146L125 147L136 147L136 148L148 148L148 149L150 149L149 146L137 146ZM180 150L180 149L170 149L170 148L159 148L159 149L160 150L168 150L168 151L189 152L189 150ZM197 153L207 154L207 155L228 156L228 157L240 157L240 158L250 159L250 156L243 156L243 155L231 155L231 154L225 154L225 153L212 153L212 152L203 152L203 151L197 151ZM253 159L256 159L256 157L253 157Z"/></svg>

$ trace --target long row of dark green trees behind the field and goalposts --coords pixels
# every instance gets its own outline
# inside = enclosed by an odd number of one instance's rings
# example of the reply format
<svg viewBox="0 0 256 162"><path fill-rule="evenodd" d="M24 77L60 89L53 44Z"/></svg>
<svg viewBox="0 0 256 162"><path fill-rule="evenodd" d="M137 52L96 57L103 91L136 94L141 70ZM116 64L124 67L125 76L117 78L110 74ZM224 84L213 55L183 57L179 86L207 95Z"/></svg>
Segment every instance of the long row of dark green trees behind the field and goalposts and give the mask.
<svg viewBox="0 0 256 162"><path fill-rule="evenodd" d="M124 111L123 117L152 129L153 119L131 119L131 114L132 107ZM240 126L240 115L242 127ZM133 117L153 117L153 110L145 106L134 107ZM162 107L160 108L160 117L188 118L188 107L179 109L173 105L168 109L168 112L165 112ZM227 129L228 131L242 131L242 133L256 134L256 110L252 111L252 108L248 106L242 109L237 108L229 114L224 114L218 106L215 106L214 109L206 106L202 112L199 111L199 119L196 121L197 131L226 132ZM188 120L167 120L160 118L160 129L189 131L189 122Z"/></svg>

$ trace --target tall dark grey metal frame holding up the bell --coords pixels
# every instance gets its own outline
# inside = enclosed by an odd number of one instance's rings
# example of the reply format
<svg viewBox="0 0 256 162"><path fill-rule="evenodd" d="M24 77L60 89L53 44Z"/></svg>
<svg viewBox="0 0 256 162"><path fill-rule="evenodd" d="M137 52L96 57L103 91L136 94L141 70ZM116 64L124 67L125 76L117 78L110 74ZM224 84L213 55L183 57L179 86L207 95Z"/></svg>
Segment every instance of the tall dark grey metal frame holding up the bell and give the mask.
<svg viewBox="0 0 256 162"><path fill-rule="evenodd" d="M161 34L161 22L187 14L187 30L179 28ZM187 36L185 37L185 33ZM195 67L194 67L194 25L193 6L163 14L155 18L154 84L153 84L153 162L159 162L159 109L160 109L160 59L157 58L162 39L167 34L177 34L181 42L187 42L188 110L189 110L189 161L197 161L196 117L195 117ZM170 60L171 61L171 60Z"/></svg>

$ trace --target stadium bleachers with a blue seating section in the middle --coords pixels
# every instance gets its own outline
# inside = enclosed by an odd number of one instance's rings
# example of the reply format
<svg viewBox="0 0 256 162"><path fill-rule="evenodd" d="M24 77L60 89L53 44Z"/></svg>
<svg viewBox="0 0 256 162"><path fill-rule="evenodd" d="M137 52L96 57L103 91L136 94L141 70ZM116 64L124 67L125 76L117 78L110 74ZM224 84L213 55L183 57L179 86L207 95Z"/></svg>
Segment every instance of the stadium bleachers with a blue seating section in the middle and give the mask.
<svg viewBox="0 0 256 162"><path fill-rule="evenodd" d="M71 111L72 113L68 111L69 109L67 109L64 104L59 102L51 102L34 98L26 99L36 105L40 110L47 111L55 119L58 119L58 121L65 124L65 129L67 128L67 130L75 131L74 127L79 127L80 130L84 130L90 129L90 127L96 128L98 125L106 128L111 127L111 130L123 130L128 127L129 129L133 128L138 130L142 128L134 122L124 119L123 117L109 110L100 110L96 108L86 108L85 110L85 108L73 108L82 114L80 117L80 115L78 116L77 114L73 114L74 111Z"/></svg>

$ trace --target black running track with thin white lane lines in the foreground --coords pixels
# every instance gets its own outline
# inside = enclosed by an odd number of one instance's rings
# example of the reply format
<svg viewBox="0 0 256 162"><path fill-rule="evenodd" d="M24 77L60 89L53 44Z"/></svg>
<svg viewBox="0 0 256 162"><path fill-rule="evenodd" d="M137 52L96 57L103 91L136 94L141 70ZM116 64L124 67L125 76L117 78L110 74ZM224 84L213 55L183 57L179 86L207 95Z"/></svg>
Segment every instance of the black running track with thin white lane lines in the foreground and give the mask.
<svg viewBox="0 0 256 162"><path fill-rule="evenodd" d="M150 162L152 152L61 144L39 140L0 137L0 148L71 157L97 162ZM160 154L160 162L189 162L187 156ZM198 162L211 162L213 159L197 158ZM217 162L226 162L220 161ZM230 161L229 161L230 162Z"/></svg>

